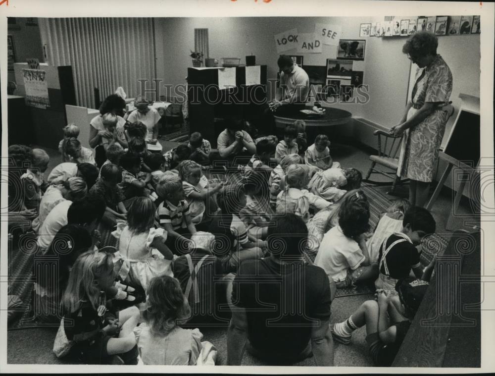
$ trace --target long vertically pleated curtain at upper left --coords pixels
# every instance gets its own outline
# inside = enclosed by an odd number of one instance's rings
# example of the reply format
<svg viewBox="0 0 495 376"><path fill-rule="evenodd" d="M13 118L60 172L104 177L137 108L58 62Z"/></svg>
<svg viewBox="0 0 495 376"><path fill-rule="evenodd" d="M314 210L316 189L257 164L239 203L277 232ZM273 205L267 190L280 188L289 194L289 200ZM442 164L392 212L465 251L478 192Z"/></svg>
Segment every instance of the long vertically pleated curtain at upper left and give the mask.
<svg viewBox="0 0 495 376"><path fill-rule="evenodd" d="M96 107L122 86L128 97L141 94L155 75L152 18L39 18L50 65L72 65L78 106Z"/></svg>

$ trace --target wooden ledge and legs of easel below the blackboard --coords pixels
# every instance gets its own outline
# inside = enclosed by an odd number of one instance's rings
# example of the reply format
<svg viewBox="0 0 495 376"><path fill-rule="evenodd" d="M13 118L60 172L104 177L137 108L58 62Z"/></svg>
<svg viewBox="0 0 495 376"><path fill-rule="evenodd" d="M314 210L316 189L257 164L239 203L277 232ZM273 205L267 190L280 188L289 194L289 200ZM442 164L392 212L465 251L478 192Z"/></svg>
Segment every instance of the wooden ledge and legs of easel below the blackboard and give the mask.
<svg viewBox="0 0 495 376"><path fill-rule="evenodd" d="M455 166L456 168L460 168L463 170L462 175L461 175L461 179L460 179L460 183L459 183L459 187L457 188L457 192L455 193L454 202L452 204L452 209L450 210L450 213L449 213L448 218L447 218L447 223L445 225L445 228L447 230L451 230L453 228L453 225L454 225L454 213L456 213L457 209L459 208L459 203L460 203L461 198L462 198L462 192L464 191L468 177L470 175L473 175L474 173L476 173L477 168L472 167L472 166L468 166L467 164L462 163L461 161L457 161L455 158L446 155L444 152L439 153L439 158L441 160L447 162L447 167L446 167L444 173L442 174L442 177L440 178L438 185L435 188L435 191L433 192L433 195L432 195L430 201L426 205L427 210L431 210L433 205L435 204L435 201L437 200L438 196L440 195L440 191L442 190L442 187L444 186L444 184L447 180L447 177L450 174L450 171L452 171L452 167ZM455 185L455 180L454 180L453 186L454 185Z"/></svg>

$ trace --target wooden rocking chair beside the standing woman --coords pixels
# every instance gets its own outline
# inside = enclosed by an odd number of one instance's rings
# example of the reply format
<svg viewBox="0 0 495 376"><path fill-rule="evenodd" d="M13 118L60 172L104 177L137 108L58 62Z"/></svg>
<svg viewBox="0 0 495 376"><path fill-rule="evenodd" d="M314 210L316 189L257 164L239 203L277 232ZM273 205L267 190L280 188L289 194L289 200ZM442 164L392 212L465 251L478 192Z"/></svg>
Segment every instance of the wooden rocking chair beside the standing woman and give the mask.
<svg viewBox="0 0 495 376"><path fill-rule="evenodd" d="M397 183L399 181L403 183L408 180L400 180L400 177L397 176L399 166L398 152L402 143L402 136L396 137L381 130L376 130L373 134L378 137L378 155L370 156L371 167L366 174L365 180L368 180L372 173L380 173L390 177L393 180L392 190L387 193L393 195L395 194ZM377 164L380 168L378 168Z"/></svg>

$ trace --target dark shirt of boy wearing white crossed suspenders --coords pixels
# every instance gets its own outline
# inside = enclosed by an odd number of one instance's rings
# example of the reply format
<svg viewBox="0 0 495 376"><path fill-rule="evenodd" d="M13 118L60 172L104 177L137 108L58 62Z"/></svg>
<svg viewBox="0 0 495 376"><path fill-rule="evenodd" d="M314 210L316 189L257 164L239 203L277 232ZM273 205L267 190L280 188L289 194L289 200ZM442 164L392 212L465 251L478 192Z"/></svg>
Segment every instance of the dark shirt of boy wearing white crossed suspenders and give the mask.
<svg viewBox="0 0 495 376"><path fill-rule="evenodd" d="M385 249L399 239L403 238L396 234L390 235L384 240ZM382 244L382 247L380 247L380 254L378 256L379 263L382 260L383 250ZM416 268L421 265L418 250L408 241L397 243L394 247L392 247L387 256L385 256L385 260L387 261L387 267L389 268L389 275L396 279L407 277L412 268ZM387 275L383 265L380 267L380 273Z"/></svg>

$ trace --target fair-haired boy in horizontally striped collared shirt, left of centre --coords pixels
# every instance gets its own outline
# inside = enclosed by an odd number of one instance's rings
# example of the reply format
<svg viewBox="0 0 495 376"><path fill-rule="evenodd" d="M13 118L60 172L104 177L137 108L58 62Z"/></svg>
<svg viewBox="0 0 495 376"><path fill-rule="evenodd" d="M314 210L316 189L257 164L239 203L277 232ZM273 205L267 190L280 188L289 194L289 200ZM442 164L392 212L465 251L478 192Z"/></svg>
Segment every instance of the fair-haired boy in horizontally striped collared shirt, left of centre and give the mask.
<svg viewBox="0 0 495 376"><path fill-rule="evenodd" d="M163 202L156 210L157 220L167 231L166 245L176 255L187 253L189 240L184 236L196 233L189 204L178 175L164 173L156 185L156 193Z"/></svg>

